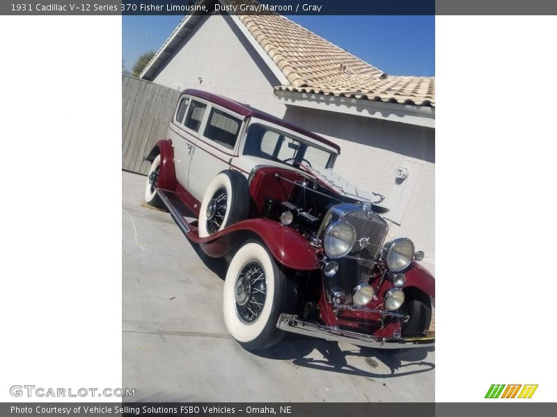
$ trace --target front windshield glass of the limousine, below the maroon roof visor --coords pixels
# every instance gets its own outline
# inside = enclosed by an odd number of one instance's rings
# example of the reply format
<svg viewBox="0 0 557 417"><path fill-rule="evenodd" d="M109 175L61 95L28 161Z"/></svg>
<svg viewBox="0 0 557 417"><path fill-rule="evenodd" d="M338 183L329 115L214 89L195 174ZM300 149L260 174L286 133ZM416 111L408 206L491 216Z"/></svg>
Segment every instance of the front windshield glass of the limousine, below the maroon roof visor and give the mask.
<svg viewBox="0 0 557 417"><path fill-rule="evenodd" d="M334 157L331 152L261 124L249 126L244 155L259 156L288 165L303 163L317 170L331 167Z"/></svg>

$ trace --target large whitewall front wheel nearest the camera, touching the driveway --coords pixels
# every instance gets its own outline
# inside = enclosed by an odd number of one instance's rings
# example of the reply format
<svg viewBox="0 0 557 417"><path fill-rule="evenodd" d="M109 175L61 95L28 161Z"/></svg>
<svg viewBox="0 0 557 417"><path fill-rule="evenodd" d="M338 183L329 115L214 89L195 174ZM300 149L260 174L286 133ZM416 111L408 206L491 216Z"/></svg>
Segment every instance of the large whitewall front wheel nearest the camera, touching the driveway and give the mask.
<svg viewBox="0 0 557 417"><path fill-rule="evenodd" d="M247 350L276 345L284 336L276 322L293 313L295 285L278 268L265 246L250 240L236 252L226 273L224 321L228 332Z"/></svg>

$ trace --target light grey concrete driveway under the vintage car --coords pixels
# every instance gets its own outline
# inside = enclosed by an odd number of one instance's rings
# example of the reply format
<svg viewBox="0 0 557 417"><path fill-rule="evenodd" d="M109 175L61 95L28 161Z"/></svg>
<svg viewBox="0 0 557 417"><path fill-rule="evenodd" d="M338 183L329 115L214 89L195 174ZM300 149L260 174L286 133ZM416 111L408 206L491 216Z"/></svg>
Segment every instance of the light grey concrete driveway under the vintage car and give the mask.
<svg viewBox="0 0 557 417"><path fill-rule="evenodd" d="M136 401L434 401L433 350L393 354L288 335L247 352L226 332L226 263L207 259L122 173L122 373Z"/></svg>

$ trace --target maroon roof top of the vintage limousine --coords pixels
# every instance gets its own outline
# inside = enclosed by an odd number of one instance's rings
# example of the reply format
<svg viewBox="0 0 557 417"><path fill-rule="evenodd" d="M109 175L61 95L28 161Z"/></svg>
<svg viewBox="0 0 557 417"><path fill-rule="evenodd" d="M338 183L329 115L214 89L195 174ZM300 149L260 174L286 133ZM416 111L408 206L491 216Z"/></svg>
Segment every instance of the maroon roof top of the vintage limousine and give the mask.
<svg viewBox="0 0 557 417"><path fill-rule="evenodd" d="M327 140L325 138L322 138L321 136L316 135L311 131L302 129L300 126L296 126L295 124L290 124L288 122L285 122L284 120L279 119L274 115L270 115L269 113L260 111L257 108L253 108L249 106L249 104L242 104L239 103L238 101L235 101L233 99L228 99L227 97L223 97L221 95L213 94L211 92L207 92L203 90L195 90L193 88L188 88L187 90L183 90L182 94L187 94L193 97L199 97L200 99L211 101L212 103L217 104L218 106L228 108L228 110L233 111L234 113L237 113L244 117L258 117L258 119L265 120L266 122L278 124L278 126L283 126L286 129L290 129L292 131L300 133L301 135L308 136L309 138L317 140L317 142L321 142L324 145L333 147L340 154L340 146L338 146L336 143L331 142L330 140Z"/></svg>

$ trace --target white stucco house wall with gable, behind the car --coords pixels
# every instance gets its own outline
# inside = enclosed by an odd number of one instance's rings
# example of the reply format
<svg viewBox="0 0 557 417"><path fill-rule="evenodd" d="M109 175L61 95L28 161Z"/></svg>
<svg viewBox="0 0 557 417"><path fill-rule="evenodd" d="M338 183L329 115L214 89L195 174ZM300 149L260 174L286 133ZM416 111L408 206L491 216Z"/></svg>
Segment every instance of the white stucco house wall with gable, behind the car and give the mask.
<svg viewBox="0 0 557 417"><path fill-rule="evenodd" d="M198 77L202 78L200 83ZM333 140L342 148L336 171L356 185L389 195L405 161L419 166L399 224L390 237L408 236L434 271L434 129L343 113L286 106L273 93L278 81L230 17L206 17L159 71L155 83L199 88L260 108ZM389 206L389 204L386 204Z"/></svg>

